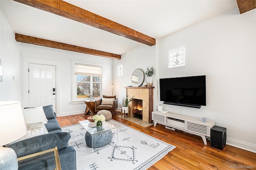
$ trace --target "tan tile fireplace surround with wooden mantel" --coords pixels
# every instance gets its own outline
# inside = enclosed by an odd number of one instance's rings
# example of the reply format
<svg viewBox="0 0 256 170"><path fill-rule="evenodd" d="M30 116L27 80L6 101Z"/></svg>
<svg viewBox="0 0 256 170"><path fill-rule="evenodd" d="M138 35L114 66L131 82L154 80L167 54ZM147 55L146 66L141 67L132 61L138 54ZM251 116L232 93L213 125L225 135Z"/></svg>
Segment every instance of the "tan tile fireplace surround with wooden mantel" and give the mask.
<svg viewBox="0 0 256 170"><path fill-rule="evenodd" d="M155 87L124 87L126 88L126 96L129 95L130 97L134 96L134 99L141 99L142 100L142 121L153 123L151 119L151 113L153 111L154 105L154 88ZM131 102L128 103L129 107L129 114L132 114L132 104Z"/></svg>

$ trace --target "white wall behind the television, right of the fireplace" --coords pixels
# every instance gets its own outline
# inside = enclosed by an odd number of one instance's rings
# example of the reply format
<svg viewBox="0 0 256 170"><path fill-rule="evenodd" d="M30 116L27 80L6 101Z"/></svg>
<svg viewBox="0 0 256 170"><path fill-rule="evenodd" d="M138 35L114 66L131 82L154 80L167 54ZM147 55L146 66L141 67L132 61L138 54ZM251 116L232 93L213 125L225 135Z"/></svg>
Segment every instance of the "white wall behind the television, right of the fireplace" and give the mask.
<svg viewBox="0 0 256 170"><path fill-rule="evenodd" d="M227 128L228 144L256 152L256 10L242 15L238 8L231 10L162 38L158 45L159 78L207 79L207 106L164 105L164 110L208 117ZM167 69L167 50L180 45L186 45L187 66Z"/></svg>

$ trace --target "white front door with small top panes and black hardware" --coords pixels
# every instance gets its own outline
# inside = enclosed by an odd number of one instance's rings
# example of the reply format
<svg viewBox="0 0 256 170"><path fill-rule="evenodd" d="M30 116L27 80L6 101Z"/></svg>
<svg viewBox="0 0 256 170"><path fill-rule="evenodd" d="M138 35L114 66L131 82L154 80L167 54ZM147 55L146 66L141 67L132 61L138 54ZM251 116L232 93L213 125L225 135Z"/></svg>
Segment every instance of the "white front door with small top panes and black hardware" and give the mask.
<svg viewBox="0 0 256 170"><path fill-rule="evenodd" d="M29 107L52 105L56 112L56 66L29 63Z"/></svg>

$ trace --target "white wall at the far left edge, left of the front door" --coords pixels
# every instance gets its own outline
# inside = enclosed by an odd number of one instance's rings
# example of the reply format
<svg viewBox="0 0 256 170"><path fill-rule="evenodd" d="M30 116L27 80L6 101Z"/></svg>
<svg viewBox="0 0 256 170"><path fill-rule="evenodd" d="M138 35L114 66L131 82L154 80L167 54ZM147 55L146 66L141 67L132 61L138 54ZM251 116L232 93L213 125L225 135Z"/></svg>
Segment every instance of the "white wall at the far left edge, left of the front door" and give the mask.
<svg viewBox="0 0 256 170"><path fill-rule="evenodd" d="M0 11L0 32L0 59L3 67L0 100L20 101L20 43L15 41L14 31L2 11Z"/></svg>

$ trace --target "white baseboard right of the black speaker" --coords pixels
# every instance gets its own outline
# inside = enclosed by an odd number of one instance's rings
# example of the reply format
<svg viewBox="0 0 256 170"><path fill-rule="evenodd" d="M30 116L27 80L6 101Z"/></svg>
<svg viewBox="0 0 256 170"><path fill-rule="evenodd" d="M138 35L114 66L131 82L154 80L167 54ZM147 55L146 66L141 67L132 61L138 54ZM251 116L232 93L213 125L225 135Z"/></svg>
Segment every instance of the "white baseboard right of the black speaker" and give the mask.
<svg viewBox="0 0 256 170"><path fill-rule="evenodd" d="M226 144L256 153L256 144L251 144L248 142L243 142L241 140L236 140L232 138L227 138Z"/></svg>

